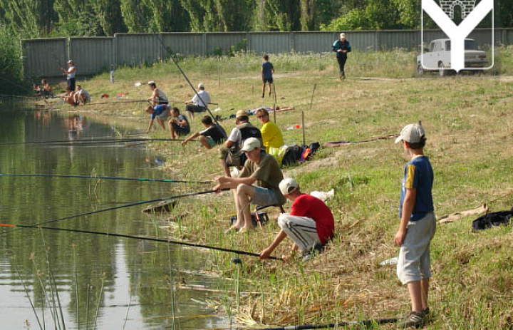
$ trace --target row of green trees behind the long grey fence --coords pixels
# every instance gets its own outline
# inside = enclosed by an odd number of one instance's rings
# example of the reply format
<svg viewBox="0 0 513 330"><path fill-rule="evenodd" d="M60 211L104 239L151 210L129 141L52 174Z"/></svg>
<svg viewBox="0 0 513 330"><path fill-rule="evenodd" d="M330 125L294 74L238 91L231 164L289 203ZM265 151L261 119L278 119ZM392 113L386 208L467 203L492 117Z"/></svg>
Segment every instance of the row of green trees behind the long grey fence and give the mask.
<svg viewBox="0 0 513 330"><path fill-rule="evenodd" d="M420 27L420 0L0 0L0 4L0 26L21 38ZM501 0L499 7L500 26L513 26L513 0Z"/></svg>

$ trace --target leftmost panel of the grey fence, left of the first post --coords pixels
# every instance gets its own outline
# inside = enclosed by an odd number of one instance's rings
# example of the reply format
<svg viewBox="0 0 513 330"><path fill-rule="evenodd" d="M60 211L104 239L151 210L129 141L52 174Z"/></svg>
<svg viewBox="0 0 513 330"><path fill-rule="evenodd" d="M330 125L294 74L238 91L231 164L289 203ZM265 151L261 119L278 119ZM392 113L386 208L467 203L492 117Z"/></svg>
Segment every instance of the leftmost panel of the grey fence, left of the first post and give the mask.
<svg viewBox="0 0 513 330"><path fill-rule="evenodd" d="M63 76L60 66L67 68L66 38L30 39L21 43L26 78Z"/></svg>

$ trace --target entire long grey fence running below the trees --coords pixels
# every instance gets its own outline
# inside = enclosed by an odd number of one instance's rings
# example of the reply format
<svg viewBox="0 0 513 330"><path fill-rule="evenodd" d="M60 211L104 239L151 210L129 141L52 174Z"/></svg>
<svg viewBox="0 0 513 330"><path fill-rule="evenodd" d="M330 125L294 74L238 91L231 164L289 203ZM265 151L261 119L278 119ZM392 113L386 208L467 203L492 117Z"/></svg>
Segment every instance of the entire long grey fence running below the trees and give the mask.
<svg viewBox="0 0 513 330"><path fill-rule="evenodd" d="M346 31L356 51L413 50L421 43L446 38L440 30ZM79 76L90 76L115 66L152 63L169 53L208 56L229 51L254 53L323 53L331 51L338 32L224 32L224 33L115 33L113 37L46 38L21 41L26 78L62 76L59 66L68 58ZM513 43L513 29L476 29L478 45Z"/></svg>

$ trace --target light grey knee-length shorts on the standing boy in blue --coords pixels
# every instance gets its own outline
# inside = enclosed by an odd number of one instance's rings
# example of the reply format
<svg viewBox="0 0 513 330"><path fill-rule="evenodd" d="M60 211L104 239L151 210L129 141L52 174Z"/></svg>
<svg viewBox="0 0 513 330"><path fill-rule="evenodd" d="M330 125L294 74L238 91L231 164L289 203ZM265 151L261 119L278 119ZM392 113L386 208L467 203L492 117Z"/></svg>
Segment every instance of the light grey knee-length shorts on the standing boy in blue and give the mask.
<svg viewBox="0 0 513 330"><path fill-rule="evenodd" d="M408 222L397 265L398 278L403 284L431 277L430 243L435 231L436 217L433 212L418 221Z"/></svg>

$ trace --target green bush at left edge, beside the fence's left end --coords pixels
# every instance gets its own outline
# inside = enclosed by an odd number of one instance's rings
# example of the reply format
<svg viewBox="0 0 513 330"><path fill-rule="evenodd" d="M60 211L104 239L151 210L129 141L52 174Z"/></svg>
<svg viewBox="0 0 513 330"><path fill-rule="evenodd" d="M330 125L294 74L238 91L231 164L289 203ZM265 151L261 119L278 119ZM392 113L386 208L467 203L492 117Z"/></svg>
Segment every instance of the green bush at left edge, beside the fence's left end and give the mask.
<svg viewBox="0 0 513 330"><path fill-rule="evenodd" d="M13 88L13 85L19 86L23 81L20 55L19 39L6 26L0 25L0 93L2 94L24 92L19 88Z"/></svg>

